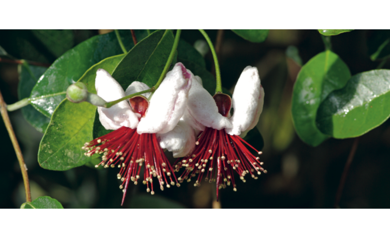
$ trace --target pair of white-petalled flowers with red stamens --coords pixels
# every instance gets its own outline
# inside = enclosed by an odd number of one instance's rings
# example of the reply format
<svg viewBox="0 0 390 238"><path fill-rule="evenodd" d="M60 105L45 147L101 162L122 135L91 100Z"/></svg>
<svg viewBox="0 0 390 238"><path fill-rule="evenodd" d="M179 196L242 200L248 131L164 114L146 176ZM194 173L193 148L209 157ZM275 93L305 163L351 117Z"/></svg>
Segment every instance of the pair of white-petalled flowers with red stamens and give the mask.
<svg viewBox="0 0 390 238"><path fill-rule="evenodd" d="M95 85L105 101L149 89L145 83L134 81L124 91L102 69L97 71ZM199 186L204 176L206 181L215 181L218 189L232 185L236 191L234 171L244 182L246 174L257 179L261 172L267 172L246 146L257 155L261 152L240 137L258 123L263 102L264 89L255 67L244 69L230 98L222 93L211 96L198 76L177 63L153 95L145 93L110 108L98 107L101 124L114 131L86 143L83 149L87 156L101 156L98 165L120 168L117 177L122 181L122 204L130 180L138 183L143 165L142 183L151 194L153 177L161 190L164 186L180 187L191 177ZM179 158L173 166L163 149ZM180 168L184 171L177 178L174 171Z"/></svg>

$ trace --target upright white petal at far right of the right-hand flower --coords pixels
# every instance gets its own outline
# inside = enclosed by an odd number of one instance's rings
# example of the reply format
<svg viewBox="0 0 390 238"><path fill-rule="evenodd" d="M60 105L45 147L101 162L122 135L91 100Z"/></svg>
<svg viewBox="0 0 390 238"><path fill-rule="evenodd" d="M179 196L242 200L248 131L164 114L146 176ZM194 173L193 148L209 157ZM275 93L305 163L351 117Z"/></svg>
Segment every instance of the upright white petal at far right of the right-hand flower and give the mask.
<svg viewBox="0 0 390 238"><path fill-rule="evenodd" d="M228 134L240 135L257 124L263 110L264 90L261 88L257 68L246 67L234 87L232 96L234 113L230 118L233 128L226 129Z"/></svg>

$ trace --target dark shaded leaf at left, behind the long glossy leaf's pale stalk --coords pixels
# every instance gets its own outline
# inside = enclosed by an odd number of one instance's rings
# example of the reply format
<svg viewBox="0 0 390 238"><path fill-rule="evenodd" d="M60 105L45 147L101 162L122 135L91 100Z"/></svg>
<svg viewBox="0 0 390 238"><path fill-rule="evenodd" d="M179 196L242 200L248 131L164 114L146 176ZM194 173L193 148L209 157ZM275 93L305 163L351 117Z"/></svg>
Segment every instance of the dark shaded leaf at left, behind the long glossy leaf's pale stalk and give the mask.
<svg viewBox="0 0 390 238"><path fill-rule="evenodd" d="M31 90L36 84L37 80L45 73L46 67L28 66L30 71L23 65L19 65L19 84L17 87L17 94L19 100L29 97ZM50 118L38 112L32 105L27 105L21 108L22 114L26 121L30 123L37 131L44 133L49 125Z"/></svg>

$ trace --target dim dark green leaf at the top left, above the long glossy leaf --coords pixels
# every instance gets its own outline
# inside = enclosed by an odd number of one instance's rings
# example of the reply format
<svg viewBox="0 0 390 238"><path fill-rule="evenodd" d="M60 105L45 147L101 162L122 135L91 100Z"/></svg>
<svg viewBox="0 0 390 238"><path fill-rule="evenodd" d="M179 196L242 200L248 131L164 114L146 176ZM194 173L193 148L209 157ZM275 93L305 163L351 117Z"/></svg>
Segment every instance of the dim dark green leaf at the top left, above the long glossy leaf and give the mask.
<svg viewBox="0 0 390 238"><path fill-rule="evenodd" d="M32 34L56 58L60 57L75 44L73 30L30 30Z"/></svg>

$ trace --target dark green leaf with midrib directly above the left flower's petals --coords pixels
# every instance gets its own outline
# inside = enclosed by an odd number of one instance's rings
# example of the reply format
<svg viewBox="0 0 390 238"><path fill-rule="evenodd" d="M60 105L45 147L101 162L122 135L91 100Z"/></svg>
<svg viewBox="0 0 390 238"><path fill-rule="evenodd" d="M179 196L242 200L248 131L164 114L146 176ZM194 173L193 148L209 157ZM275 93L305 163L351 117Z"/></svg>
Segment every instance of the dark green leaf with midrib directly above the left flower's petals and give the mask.
<svg viewBox="0 0 390 238"><path fill-rule="evenodd" d="M154 86L163 72L173 42L172 31L154 31L127 53L112 73L112 77L120 83L123 89L126 89L135 80L144 82L150 87ZM175 57L172 65L176 62L177 58ZM94 138L108 132L110 131L105 130L96 117L93 130Z"/></svg>

